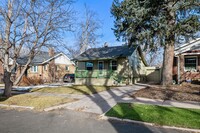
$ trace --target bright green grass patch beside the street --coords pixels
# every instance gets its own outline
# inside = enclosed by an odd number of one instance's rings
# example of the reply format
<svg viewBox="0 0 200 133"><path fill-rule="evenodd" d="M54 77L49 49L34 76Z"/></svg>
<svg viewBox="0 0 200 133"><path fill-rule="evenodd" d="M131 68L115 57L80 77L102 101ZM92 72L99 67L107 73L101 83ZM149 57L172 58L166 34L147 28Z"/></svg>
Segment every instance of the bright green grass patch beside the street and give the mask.
<svg viewBox="0 0 200 133"><path fill-rule="evenodd" d="M200 110L120 103L107 116L185 128L200 129Z"/></svg>

